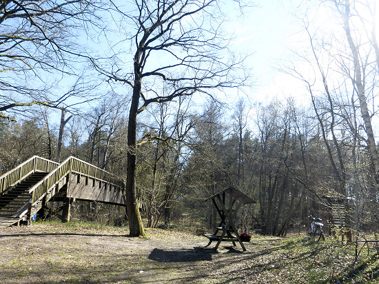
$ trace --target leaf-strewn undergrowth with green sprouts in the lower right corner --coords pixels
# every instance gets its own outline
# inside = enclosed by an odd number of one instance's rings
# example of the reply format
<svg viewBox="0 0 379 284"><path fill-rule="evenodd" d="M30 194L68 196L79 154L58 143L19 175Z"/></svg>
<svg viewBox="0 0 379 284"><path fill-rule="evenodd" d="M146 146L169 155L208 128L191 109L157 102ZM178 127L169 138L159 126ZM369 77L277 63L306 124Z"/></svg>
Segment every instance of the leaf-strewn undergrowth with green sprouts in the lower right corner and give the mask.
<svg viewBox="0 0 379 284"><path fill-rule="evenodd" d="M358 252L361 249L362 245ZM285 258L283 270L290 266L294 280L299 282L307 279L308 283L379 283L376 245L365 245L356 258L355 243L344 244L332 238L318 243L300 236L283 240L278 252Z"/></svg>

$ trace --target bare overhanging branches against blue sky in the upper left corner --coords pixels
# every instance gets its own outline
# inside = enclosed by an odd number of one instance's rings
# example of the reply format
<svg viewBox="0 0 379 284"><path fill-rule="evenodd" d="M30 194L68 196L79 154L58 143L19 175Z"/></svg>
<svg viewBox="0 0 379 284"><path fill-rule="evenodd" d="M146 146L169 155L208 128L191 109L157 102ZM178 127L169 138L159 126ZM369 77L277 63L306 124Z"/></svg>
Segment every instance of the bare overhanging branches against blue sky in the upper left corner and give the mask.
<svg viewBox="0 0 379 284"><path fill-rule="evenodd" d="M52 88L62 74L76 76L77 33L93 8L92 0L1 2L0 117L12 120L33 105L63 107L73 90L54 95Z"/></svg>

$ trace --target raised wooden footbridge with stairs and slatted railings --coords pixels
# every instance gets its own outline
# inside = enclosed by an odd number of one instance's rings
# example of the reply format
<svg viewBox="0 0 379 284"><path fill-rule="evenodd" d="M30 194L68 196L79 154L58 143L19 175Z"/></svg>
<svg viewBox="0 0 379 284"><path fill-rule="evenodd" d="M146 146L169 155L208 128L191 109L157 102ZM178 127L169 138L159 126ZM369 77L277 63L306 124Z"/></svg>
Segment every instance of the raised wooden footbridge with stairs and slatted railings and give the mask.
<svg viewBox="0 0 379 284"><path fill-rule="evenodd" d="M125 206L124 188L109 172L73 156L60 164L33 156L0 176L0 228L30 221L50 200L63 201L62 221L70 220L76 199Z"/></svg>

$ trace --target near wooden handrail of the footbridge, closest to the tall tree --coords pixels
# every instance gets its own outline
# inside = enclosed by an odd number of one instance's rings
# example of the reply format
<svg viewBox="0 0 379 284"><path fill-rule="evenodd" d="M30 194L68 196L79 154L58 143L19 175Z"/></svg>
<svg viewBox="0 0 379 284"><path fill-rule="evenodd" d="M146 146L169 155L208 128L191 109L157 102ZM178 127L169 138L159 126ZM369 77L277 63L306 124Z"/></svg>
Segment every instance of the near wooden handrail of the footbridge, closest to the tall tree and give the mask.
<svg viewBox="0 0 379 284"><path fill-rule="evenodd" d="M123 189L125 187L123 181L117 179L115 176L110 174L110 172L101 170L101 168L91 165L85 161L81 161L74 156L70 156L68 159L65 159L65 161L63 161L63 163L61 163L55 170L50 172L50 174L45 176L41 181L30 188L29 193L32 194L32 205L42 199L50 188L61 181L61 179L63 179L63 177L65 177L69 172L89 176L92 179L109 183L119 189Z"/></svg>

